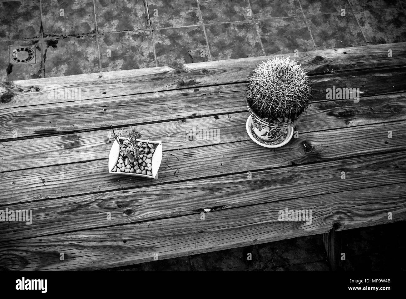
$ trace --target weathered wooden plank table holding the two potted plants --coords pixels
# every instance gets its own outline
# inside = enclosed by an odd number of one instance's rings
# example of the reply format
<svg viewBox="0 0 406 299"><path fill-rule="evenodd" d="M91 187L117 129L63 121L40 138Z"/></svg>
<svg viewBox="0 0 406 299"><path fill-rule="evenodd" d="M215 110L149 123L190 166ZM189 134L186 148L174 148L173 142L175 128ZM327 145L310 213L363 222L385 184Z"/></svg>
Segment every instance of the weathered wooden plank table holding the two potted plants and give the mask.
<svg viewBox="0 0 406 299"><path fill-rule="evenodd" d="M0 222L0 267L100 269L405 220L406 43L299 53L314 98L274 150L245 128L264 59L3 82L0 210L33 219ZM361 99L327 100L333 85ZM158 179L108 173L110 125L162 140ZM311 225L279 221L286 208Z"/></svg>

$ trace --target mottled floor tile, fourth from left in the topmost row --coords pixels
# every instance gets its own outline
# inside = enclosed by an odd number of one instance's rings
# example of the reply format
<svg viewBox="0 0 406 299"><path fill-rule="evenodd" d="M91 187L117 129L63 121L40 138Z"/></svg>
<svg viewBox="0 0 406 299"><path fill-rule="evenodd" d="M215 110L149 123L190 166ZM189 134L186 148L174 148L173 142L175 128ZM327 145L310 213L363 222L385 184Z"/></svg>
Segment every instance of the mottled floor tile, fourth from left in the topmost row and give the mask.
<svg viewBox="0 0 406 299"><path fill-rule="evenodd" d="M200 24L196 0L148 0L153 28L181 27Z"/></svg>

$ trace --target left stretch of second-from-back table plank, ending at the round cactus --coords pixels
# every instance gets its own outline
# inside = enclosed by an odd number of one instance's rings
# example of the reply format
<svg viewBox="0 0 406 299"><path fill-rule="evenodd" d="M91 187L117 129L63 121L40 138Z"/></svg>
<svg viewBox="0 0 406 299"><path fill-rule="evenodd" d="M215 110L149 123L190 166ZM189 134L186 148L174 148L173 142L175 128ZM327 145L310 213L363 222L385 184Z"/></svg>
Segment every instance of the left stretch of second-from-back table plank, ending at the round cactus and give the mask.
<svg viewBox="0 0 406 299"><path fill-rule="evenodd" d="M158 97L145 94L82 101L69 105L57 104L63 107L48 108L49 105L41 105L2 109L0 139L13 138L16 132L17 137L24 137L84 129L94 130L110 125L149 123L151 126L153 124L159 126L159 122L165 120L246 111L244 100L240 96L243 90L244 87L241 85L223 85L205 87L200 91L187 89L163 92Z"/></svg>

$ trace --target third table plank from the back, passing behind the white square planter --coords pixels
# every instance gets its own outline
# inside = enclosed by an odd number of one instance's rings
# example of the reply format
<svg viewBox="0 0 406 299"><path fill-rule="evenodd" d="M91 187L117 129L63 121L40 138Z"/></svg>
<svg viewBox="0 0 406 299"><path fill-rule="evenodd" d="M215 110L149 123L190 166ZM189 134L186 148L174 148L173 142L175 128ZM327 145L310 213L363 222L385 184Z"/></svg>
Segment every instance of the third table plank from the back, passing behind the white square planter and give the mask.
<svg viewBox="0 0 406 299"><path fill-rule="evenodd" d="M235 105L235 109L243 109ZM299 120L296 130L304 132L350 128L374 122L393 122L406 119L406 93L389 94L362 98L359 103L352 100L335 100L313 103L307 113ZM134 126L145 132L151 140L162 140L164 150L207 146L218 143L249 140L245 130L248 112L204 118L182 119L171 122L160 122ZM191 142L187 135L189 130L218 130L216 139L200 139ZM130 128L125 128L127 130ZM58 135L15 140L0 144L0 172L19 168L35 168L50 165L71 163L72 161L89 161L108 157L110 152L111 129L80 132L69 135ZM46 150L44 150L46 148ZM27 164L29 161L29 164Z"/></svg>

